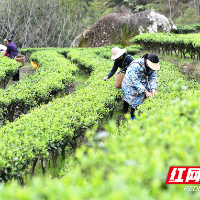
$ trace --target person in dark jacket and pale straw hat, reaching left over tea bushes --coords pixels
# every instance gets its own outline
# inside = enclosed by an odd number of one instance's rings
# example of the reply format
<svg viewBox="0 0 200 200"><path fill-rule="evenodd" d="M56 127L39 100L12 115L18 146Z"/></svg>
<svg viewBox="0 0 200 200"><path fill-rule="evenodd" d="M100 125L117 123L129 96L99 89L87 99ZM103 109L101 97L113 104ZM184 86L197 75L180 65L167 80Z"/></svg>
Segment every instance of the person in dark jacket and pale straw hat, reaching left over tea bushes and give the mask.
<svg viewBox="0 0 200 200"><path fill-rule="evenodd" d="M114 65L112 67L112 70L108 73L107 76L105 76L103 79L106 81L107 79L111 78L115 72L117 71L118 68L124 69L124 71L127 70L127 66L134 61L134 58L129 55L128 53L125 53L126 49L120 49L118 47L113 47L112 48L112 60L115 60ZM124 101L123 105L123 113L126 113L128 110L129 104Z"/></svg>

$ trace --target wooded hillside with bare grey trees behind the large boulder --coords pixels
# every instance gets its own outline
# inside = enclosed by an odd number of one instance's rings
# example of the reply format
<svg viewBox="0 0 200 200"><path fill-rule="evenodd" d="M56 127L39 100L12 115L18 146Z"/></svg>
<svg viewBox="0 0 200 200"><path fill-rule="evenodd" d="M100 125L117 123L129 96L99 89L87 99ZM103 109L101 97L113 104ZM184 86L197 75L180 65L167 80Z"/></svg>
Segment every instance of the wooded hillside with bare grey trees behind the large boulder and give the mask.
<svg viewBox="0 0 200 200"><path fill-rule="evenodd" d="M170 0L170 7L163 0L13 0L12 4L4 0L0 4L0 40L7 36L19 48L69 47L78 35L111 13L154 10L175 25L199 22L197 0Z"/></svg>

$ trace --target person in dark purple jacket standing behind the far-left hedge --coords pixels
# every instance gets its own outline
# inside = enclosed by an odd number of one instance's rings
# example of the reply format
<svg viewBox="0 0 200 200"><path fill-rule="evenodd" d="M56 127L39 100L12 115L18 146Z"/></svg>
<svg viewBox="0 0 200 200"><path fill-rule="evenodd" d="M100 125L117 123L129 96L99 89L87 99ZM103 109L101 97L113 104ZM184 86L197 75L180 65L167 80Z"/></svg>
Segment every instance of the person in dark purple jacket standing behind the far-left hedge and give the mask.
<svg viewBox="0 0 200 200"><path fill-rule="evenodd" d="M18 55L17 46L9 38L5 38L4 43L7 46L6 54L8 54L8 57L11 58L11 59L15 59L15 56ZM12 80L13 81L19 81L19 70L13 76Z"/></svg>

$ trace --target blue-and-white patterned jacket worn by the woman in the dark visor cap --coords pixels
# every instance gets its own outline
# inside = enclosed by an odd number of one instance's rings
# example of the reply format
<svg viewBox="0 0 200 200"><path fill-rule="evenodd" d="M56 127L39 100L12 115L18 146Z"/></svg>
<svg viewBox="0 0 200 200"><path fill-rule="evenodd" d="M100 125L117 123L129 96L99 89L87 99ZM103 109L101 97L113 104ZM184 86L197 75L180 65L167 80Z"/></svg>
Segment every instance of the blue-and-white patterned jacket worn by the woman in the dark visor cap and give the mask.
<svg viewBox="0 0 200 200"><path fill-rule="evenodd" d="M132 108L137 108L144 102L146 91L157 89L156 71L152 69L147 71L144 58L139 58L128 67L121 88L124 91L124 101Z"/></svg>

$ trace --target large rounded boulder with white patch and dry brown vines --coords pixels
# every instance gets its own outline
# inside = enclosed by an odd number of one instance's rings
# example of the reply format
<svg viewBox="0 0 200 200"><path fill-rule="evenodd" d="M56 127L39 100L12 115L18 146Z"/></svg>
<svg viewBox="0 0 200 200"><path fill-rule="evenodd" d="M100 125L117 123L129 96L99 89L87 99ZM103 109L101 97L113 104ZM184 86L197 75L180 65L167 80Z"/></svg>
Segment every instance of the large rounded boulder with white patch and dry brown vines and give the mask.
<svg viewBox="0 0 200 200"><path fill-rule="evenodd" d="M71 47L100 47L128 45L129 40L142 33L176 30L176 26L164 15L147 10L136 14L111 13L99 19L72 42Z"/></svg>

